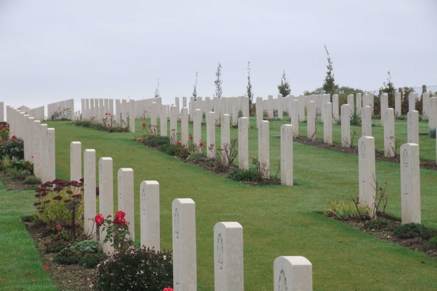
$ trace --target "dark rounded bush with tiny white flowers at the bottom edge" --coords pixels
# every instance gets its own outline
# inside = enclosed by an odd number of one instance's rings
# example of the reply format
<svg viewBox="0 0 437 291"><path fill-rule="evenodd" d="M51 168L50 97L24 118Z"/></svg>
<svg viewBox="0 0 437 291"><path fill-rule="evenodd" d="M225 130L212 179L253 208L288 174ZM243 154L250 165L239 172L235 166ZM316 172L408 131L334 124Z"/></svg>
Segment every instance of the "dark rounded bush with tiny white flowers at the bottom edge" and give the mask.
<svg viewBox="0 0 437 291"><path fill-rule="evenodd" d="M173 285L171 252L153 248L116 251L97 265L93 290L163 290Z"/></svg>

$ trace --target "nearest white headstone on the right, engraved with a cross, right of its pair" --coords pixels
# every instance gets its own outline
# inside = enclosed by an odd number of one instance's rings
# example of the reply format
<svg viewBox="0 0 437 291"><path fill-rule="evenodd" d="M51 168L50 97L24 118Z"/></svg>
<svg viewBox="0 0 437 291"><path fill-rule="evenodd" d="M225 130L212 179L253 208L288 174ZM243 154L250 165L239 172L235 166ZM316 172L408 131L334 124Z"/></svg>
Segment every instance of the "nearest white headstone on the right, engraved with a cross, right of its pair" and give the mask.
<svg viewBox="0 0 437 291"><path fill-rule="evenodd" d="M403 144L400 155L402 223L421 223L419 145Z"/></svg>

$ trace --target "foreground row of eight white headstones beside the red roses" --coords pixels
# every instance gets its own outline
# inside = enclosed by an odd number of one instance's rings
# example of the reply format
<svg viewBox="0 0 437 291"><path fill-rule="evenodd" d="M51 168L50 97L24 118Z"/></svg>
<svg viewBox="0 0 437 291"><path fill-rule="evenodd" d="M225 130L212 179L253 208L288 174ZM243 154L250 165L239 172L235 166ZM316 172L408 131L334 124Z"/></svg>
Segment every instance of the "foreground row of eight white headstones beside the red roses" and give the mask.
<svg viewBox="0 0 437 291"><path fill-rule="evenodd" d="M81 143L71 142L71 179L77 178L81 165ZM95 233L92 218L96 215L96 152L84 151L84 216L85 232ZM99 159L99 213L114 214L113 160ZM133 170L118 171L118 210L126 213L131 238L134 239ZM140 184L140 245L160 250L159 183ZM214 233L214 289L244 290L243 229L238 222L218 222ZM110 242L103 243L106 232L100 229L102 250L111 253ZM172 202L173 287L175 290L197 290L196 215L191 198ZM301 256L282 256L273 262L274 290L312 290L312 265Z"/></svg>

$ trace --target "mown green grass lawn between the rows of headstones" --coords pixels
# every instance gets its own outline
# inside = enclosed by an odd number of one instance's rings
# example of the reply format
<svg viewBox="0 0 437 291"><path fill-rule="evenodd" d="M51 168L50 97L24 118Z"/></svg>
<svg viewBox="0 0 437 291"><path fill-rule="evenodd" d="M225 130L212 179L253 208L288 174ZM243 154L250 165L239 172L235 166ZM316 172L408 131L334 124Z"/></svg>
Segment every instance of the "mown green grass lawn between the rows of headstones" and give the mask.
<svg viewBox="0 0 437 291"><path fill-rule="evenodd" d="M120 168L134 170L135 237L139 240L139 185L143 180L160 183L161 249L171 249L171 202L175 198L192 198L196 203L198 289L213 290L213 226L221 221L236 221L243 227L244 284L247 290L271 290L273 260L278 256L304 256L313 265L314 290L430 290L437 289L437 261L387 241L352 229L326 218L318 212L333 200L358 197L358 160L355 155L314 148L294 143L294 180L296 186L249 187L205 172L164 153L146 148L133 141L141 132L141 122L135 120L137 133L104 133L69 122L48 122L56 129L56 177L69 179L69 144L80 141L82 151L95 149L99 157L113 158L114 176ZM146 120L147 122L149 120ZM280 156L279 128L285 121L270 122L271 173L277 170ZM149 123L149 122L148 122ZM258 155L256 119L250 118L249 156ZM375 122L377 123L377 122ZM423 124L422 124L423 123ZM320 126L319 126L320 125ZM180 124L178 124L180 127ZM192 126L190 125L190 130ZM306 136L306 123L300 123L300 134ZM321 124L318 127L322 129ZM396 120L396 138L406 141L406 120ZM179 128L180 129L180 128ZM333 127L334 142L340 142L340 126ZM360 128L351 128L361 134ZM421 122L420 132L427 131ZM383 147L382 128L372 128L376 148ZM231 128L231 138L237 137ZM216 128L216 144L220 128ZM202 127L202 140L206 129ZM323 131L316 134L323 138ZM356 141L358 138L356 138ZM356 145L357 142L354 144ZM435 139L420 137L421 158L435 160ZM436 181L433 171L421 170L422 223L437 229ZM400 218L399 165L376 162L379 183L388 182L387 213ZM114 179L117 207L117 179ZM11 221L7 231L0 233L3 259L0 267L0 289L32 289L28 270L41 273L38 281L53 289L44 273L44 266L35 259L38 253L20 216L32 213L35 200L30 191L7 192L0 202L0 221ZM19 199L15 199L19 196ZM9 220L8 220L9 219ZM87 218L85 218L87 219ZM13 222L13 224L12 224ZM3 229L3 227L2 227ZM23 232L15 238L15 232ZM19 240L20 243L16 243ZM23 242L21 242L23 240ZM5 241L5 243L3 243ZM139 241L137 241L139 243ZM12 255L8 250L28 252L26 256ZM27 251L26 251L27 250ZM21 262L16 262L21 261ZM8 264L16 267L8 273ZM5 272L5 275L2 275ZM13 281L13 282L12 282ZM43 288L34 288L34 290Z"/></svg>

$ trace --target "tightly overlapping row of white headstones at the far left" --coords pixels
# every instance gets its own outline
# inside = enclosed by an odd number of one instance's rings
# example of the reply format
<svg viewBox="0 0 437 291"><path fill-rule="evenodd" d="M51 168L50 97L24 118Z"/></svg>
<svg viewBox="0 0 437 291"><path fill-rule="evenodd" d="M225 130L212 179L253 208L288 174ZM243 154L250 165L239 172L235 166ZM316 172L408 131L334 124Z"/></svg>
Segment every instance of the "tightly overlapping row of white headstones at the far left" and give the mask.
<svg viewBox="0 0 437 291"><path fill-rule="evenodd" d="M6 108L10 135L22 138L24 160L33 162L33 175L41 181L55 179L55 129L48 128L41 120L35 120L21 110ZM12 158L12 157L11 157Z"/></svg>

